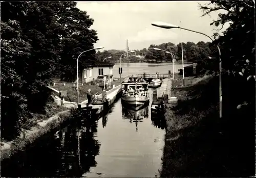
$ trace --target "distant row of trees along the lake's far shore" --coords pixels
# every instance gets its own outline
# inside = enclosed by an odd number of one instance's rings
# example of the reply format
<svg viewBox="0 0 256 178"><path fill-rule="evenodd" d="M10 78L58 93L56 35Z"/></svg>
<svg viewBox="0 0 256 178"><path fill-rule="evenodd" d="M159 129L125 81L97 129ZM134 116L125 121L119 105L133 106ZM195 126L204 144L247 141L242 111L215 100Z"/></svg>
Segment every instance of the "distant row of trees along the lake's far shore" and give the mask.
<svg viewBox="0 0 256 178"><path fill-rule="evenodd" d="M199 41L198 43L194 42L186 42L182 43L183 45L183 59L184 61L192 62L192 61L203 61L208 60L211 56L211 48L210 42ZM162 43L159 45L151 44L147 49L143 48L140 50L134 50L134 53L130 53L128 57L124 55L123 62L172 62L172 55L167 54L161 50L155 50L153 48L160 48L172 53L176 61L182 60L182 52L181 52L181 43L175 45L172 42ZM125 53L124 50L104 50L102 53L97 52L96 58L99 61L103 61L103 59L107 57L112 57L109 59L105 59L110 62L119 61L120 56ZM144 58L138 58L136 56L141 56Z"/></svg>

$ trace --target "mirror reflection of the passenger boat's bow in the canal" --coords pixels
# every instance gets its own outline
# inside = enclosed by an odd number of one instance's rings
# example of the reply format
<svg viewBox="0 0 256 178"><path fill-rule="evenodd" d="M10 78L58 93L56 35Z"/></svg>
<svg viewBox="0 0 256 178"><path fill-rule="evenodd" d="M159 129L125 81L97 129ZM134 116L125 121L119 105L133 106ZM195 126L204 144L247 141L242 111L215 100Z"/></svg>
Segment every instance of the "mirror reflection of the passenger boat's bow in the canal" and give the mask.
<svg viewBox="0 0 256 178"><path fill-rule="evenodd" d="M130 122L135 122L136 131L138 131L138 122L143 122L144 118L148 118L148 106L140 110L133 110L122 106L122 118L130 119Z"/></svg>

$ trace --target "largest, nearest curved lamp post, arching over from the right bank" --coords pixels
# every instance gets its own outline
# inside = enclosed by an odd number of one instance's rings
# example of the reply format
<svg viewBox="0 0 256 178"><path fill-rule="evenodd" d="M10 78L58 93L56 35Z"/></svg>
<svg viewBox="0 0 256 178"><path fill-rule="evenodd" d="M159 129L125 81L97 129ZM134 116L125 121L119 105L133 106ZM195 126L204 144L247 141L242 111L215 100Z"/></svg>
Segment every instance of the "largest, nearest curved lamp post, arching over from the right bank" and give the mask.
<svg viewBox="0 0 256 178"><path fill-rule="evenodd" d="M163 28L163 29L173 29L173 28L178 28L178 29L183 29L183 30L187 30L187 31L190 31L190 32L195 32L195 33L199 33L201 35L204 35L206 37L208 37L211 41L214 41L212 40L211 37L209 37L208 35L204 34L204 33L201 33L201 32L197 32L197 31L194 31L194 30L189 30L189 29L185 29L185 28L181 28L179 26L176 26L174 24L169 24L169 23L165 23L165 22L153 22L151 23L152 26L155 26L155 27L160 27L160 28ZM220 118L222 118L222 82L221 82L221 72L222 72L222 64L221 64L221 50L220 50L220 46L217 44L217 48L218 48L218 52L219 52L219 68L220 68L220 74L219 74L219 92L220 92Z"/></svg>

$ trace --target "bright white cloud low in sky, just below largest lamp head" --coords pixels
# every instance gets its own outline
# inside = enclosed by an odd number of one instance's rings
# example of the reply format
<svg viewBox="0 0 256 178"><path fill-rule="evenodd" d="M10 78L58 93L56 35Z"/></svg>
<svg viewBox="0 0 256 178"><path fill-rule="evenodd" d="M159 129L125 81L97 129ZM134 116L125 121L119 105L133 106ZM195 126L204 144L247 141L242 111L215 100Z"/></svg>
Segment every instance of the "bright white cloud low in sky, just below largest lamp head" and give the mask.
<svg viewBox="0 0 256 178"><path fill-rule="evenodd" d="M161 29L152 29L146 28L143 31L137 33L136 36L131 36L129 39L130 42L141 42L141 41L153 41L153 40L162 40L162 39L177 39L178 35L172 31L163 31Z"/></svg>

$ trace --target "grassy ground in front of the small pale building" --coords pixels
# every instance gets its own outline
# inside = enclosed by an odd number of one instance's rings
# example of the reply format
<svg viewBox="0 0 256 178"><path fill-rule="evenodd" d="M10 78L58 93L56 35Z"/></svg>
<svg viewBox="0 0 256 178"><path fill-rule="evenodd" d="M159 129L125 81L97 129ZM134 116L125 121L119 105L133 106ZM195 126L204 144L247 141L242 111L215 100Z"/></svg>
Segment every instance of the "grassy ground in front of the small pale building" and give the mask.
<svg viewBox="0 0 256 178"><path fill-rule="evenodd" d="M89 85L88 84L79 84L79 102L82 102L84 100L87 99L87 91L88 89L91 89L91 93L92 94L101 94L103 92L103 88L102 87L99 87L97 86L96 84L102 84L102 80L94 80L93 82L91 82ZM120 85L119 83L119 80L115 80L112 82L113 85L118 86ZM76 89L76 86L73 86L73 85L55 85L55 86L52 86L54 89L56 90L66 90L67 91L67 96L66 97L63 97L66 101L70 101L70 102L76 102L77 101L77 89ZM110 88L111 89L111 88ZM109 90L110 90L109 89ZM107 88L105 88L106 91L108 91Z"/></svg>

